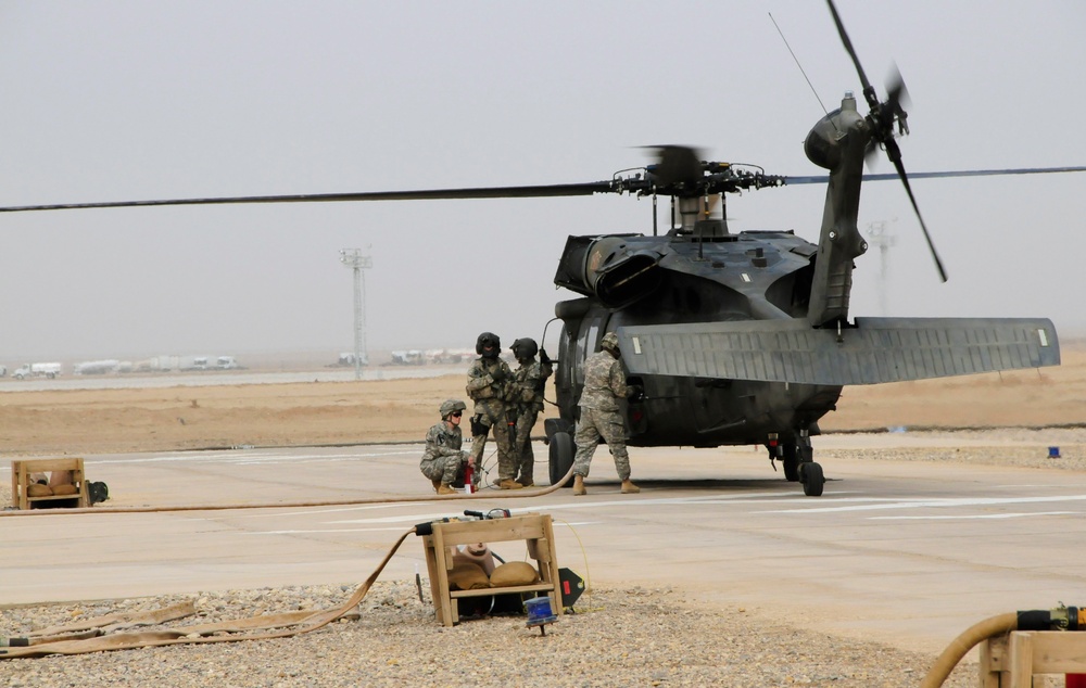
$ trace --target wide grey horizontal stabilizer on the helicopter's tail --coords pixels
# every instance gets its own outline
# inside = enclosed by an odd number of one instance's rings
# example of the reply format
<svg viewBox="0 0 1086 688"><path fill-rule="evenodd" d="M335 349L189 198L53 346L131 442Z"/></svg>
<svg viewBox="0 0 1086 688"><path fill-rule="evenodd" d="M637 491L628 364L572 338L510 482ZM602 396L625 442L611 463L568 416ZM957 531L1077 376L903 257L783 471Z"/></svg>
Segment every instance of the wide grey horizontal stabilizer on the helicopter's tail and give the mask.
<svg viewBox="0 0 1086 688"><path fill-rule="evenodd" d="M876 384L1060 364L1047 318L857 318L815 329L806 319L619 328L631 374Z"/></svg>

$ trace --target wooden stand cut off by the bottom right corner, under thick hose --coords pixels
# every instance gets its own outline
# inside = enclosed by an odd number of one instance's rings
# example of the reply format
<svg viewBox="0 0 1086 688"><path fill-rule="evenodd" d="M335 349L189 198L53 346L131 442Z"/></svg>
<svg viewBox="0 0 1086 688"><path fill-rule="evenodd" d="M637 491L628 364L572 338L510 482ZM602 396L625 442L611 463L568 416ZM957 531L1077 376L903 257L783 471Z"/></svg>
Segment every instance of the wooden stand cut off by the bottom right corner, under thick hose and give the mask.
<svg viewBox="0 0 1086 688"><path fill-rule="evenodd" d="M1012 630L981 644L981 688L1031 688L1037 674L1086 674L1086 633Z"/></svg>

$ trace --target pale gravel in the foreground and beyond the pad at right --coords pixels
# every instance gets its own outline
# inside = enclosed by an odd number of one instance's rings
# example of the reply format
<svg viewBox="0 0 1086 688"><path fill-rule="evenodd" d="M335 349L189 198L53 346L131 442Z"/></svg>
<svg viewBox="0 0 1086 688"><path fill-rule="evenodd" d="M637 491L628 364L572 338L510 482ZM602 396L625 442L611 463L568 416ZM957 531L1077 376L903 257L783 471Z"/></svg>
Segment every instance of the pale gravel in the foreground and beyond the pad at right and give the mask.
<svg viewBox="0 0 1086 688"><path fill-rule="evenodd" d="M955 461L977 464L1086 470L1086 431L996 430L908 433L923 446L848 448L834 457L871 460ZM856 437L862 444L862 437ZM1047 446L1062 458L1049 459ZM818 447L818 441L816 439ZM998 446L998 451L993 450ZM2 488L0 488L2 489ZM0 494L0 500L8 497ZM257 614L341 604L356 583L341 586L207 591L192 596L198 613L171 627ZM590 590L574 614L529 629L523 616L439 626L422 585L379 581L359 604L356 620L276 640L173 646L0 661L0 687L151 686L917 686L934 655L876 644L857 644L790 626L770 610L706 610L677 588ZM0 609L0 636L111 613L156 609L187 599L164 596L73 604ZM976 664L963 663L944 684L976 685ZM1047 686L1062 686L1050 678ZM1038 687L1039 688L1039 687Z"/></svg>

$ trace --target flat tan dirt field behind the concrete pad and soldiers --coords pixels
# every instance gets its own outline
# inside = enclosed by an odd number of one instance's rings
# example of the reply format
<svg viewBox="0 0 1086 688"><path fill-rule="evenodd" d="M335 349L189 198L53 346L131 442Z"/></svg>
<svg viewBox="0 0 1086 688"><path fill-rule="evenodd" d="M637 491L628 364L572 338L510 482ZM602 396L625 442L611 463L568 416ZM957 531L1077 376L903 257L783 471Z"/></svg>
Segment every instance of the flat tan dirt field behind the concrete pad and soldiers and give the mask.
<svg viewBox="0 0 1086 688"><path fill-rule="evenodd" d="M464 378L0 393L0 451L46 456L420 441ZM553 388L547 398L554 398ZM550 407L548 413L554 413ZM1086 422L1086 342L1063 365L846 387L825 432ZM536 425L542 431L542 423Z"/></svg>

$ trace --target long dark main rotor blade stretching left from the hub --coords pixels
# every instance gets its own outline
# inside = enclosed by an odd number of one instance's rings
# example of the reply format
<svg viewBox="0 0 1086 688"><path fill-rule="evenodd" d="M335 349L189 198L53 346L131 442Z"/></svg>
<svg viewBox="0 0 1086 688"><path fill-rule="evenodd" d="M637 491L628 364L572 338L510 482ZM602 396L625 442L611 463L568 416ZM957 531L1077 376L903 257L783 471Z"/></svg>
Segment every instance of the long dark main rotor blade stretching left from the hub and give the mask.
<svg viewBox="0 0 1086 688"><path fill-rule="evenodd" d="M610 193L610 181L535 187L480 187L475 189L420 189L415 191L374 191L357 193L311 193L270 196L228 196L214 199L171 199L162 201L114 201L105 203L59 203L50 205L14 205L0 207L0 213L29 211L67 211L77 208L122 208L156 205L231 205L242 203L340 203L349 201L426 201L450 199L533 199L580 196Z"/></svg>

